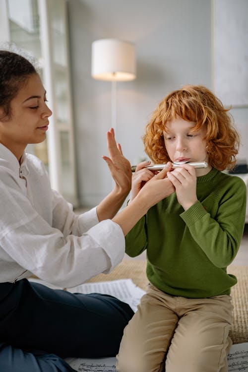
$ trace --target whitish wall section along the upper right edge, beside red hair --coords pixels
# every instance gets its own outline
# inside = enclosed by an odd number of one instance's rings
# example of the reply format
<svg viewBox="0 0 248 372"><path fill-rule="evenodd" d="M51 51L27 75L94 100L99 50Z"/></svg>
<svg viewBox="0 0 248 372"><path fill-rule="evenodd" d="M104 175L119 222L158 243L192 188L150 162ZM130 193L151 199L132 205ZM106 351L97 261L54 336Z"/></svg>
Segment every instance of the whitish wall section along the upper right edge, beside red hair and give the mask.
<svg viewBox="0 0 248 372"><path fill-rule="evenodd" d="M242 136L239 158L248 161L248 1L214 0L214 90Z"/></svg>

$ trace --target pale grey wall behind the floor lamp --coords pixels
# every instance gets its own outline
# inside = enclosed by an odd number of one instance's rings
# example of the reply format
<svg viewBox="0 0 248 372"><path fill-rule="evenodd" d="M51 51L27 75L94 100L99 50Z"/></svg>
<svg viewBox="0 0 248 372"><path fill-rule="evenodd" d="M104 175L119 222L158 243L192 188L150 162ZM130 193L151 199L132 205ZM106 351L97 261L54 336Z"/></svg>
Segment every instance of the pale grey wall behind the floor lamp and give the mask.
<svg viewBox="0 0 248 372"><path fill-rule="evenodd" d="M145 155L145 124L167 93L184 84L213 87L211 0L68 0L68 13L79 199L93 206L112 181L101 159L111 125L111 83L91 78L92 42L135 44L137 78L117 83L117 140L133 164Z"/></svg>

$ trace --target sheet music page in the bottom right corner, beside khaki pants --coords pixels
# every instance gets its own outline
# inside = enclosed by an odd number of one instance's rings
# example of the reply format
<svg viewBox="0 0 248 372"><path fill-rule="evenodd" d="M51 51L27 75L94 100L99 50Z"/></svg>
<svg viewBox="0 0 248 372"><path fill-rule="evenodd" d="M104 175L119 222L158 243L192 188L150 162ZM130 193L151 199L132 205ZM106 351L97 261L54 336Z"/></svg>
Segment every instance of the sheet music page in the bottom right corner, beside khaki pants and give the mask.
<svg viewBox="0 0 248 372"><path fill-rule="evenodd" d="M227 361L229 372L248 372L248 342L232 345Z"/></svg>

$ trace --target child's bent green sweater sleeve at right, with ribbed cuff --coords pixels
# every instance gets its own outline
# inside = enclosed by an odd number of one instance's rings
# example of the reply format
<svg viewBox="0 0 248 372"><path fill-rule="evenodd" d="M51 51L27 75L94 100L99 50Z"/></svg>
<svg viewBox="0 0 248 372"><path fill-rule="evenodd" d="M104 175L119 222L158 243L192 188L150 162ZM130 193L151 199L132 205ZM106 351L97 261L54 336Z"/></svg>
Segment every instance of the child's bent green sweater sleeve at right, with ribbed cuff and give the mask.
<svg viewBox="0 0 248 372"><path fill-rule="evenodd" d="M215 216L200 201L181 214L195 242L217 267L227 267L238 252L245 225L246 195L245 183L232 176L218 200Z"/></svg>

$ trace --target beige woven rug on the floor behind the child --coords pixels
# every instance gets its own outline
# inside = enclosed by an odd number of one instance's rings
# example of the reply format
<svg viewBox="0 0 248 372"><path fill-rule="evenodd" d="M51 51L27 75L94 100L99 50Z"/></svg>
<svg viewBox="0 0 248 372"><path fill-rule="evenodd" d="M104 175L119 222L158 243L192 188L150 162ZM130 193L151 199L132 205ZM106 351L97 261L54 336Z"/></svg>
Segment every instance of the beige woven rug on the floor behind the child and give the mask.
<svg viewBox="0 0 248 372"><path fill-rule="evenodd" d="M248 266L229 266L228 272L236 275L238 283L232 288L234 321L230 336L234 344L248 342ZM136 260L122 261L110 274L100 274L90 280L99 282L131 278L138 287L146 290L146 262Z"/></svg>

